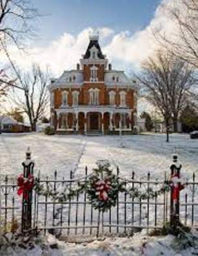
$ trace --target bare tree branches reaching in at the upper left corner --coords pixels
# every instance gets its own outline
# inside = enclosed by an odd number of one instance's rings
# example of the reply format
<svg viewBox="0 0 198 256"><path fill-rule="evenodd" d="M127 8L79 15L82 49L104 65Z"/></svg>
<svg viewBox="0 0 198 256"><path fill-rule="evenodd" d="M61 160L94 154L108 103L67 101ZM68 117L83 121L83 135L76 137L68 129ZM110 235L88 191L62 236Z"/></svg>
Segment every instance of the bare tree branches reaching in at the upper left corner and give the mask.
<svg viewBox="0 0 198 256"><path fill-rule="evenodd" d="M34 21L39 14L28 0L0 0L0 53L9 56L8 45L24 49L27 38L34 36ZM8 58L8 61L10 58ZM5 65L0 67L0 97L5 96L10 87L17 87L14 78L5 75Z"/></svg>

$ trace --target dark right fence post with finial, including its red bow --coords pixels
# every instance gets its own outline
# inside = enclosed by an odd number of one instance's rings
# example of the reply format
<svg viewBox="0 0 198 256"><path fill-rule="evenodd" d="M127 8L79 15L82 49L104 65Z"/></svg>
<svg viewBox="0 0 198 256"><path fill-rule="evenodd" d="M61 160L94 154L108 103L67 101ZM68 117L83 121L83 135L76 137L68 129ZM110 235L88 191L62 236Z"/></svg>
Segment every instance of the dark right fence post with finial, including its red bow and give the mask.
<svg viewBox="0 0 198 256"><path fill-rule="evenodd" d="M173 162L170 165L170 225L177 226L179 223L179 191L181 183L179 182L181 163L178 161L177 154L173 154Z"/></svg>

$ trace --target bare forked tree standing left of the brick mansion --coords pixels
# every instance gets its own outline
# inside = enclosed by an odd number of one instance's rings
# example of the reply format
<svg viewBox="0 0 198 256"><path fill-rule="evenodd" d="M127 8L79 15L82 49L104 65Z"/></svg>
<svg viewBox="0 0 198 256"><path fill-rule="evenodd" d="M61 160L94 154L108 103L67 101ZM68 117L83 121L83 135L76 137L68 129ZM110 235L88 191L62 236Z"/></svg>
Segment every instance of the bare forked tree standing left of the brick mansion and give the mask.
<svg viewBox="0 0 198 256"><path fill-rule="evenodd" d="M19 108L28 115L32 131L36 130L36 124L48 109L48 72L41 71L39 65L32 65L32 71L20 73L17 71L19 78L18 86L24 89L24 93L19 94L14 91L12 100Z"/></svg>

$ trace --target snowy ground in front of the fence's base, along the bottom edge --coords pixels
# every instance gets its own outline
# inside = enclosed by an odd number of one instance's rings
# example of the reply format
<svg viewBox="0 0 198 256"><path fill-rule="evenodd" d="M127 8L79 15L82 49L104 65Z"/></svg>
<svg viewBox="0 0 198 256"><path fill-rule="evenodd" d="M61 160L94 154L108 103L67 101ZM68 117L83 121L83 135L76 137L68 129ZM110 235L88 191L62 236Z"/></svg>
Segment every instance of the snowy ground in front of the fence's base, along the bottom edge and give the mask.
<svg viewBox="0 0 198 256"><path fill-rule="evenodd" d="M111 237L81 242L56 240L52 235L32 250L9 248L3 256L193 256L198 254L198 247L186 250L175 248L173 235L165 237L148 237L144 232L136 233L134 237ZM57 249L52 249L57 248ZM1 253L1 252L0 252Z"/></svg>

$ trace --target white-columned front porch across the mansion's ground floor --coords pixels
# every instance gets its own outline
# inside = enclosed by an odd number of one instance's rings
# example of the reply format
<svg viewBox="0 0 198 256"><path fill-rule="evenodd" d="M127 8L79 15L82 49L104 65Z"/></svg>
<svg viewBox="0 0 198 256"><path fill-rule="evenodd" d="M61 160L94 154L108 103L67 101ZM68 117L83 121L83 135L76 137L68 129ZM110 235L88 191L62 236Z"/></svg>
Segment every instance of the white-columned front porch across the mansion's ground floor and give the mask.
<svg viewBox="0 0 198 256"><path fill-rule="evenodd" d="M135 113L128 108L57 109L52 126L57 134L130 134Z"/></svg>

